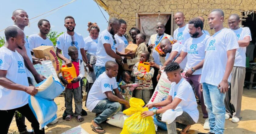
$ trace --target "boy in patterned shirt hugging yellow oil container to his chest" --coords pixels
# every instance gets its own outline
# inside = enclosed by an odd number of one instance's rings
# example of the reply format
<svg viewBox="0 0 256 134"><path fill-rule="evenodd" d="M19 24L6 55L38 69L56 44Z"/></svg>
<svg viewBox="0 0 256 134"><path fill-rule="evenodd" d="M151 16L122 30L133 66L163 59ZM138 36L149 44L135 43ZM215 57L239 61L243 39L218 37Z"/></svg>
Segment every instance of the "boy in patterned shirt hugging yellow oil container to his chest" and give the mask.
<svg viewBox="0 0 256 134"><path fill-rule="evenodd" d="M148 62L149 59L149 52L148 51L143 51L140 55L140 62ZM135 90L135 97L142 99L145 104L148 103L150 100L151 96L151 89L153 89L153 84L152 84L152 77L154 75L154 68L150 67L149 72L141 72L138 70L138 65L140 62L137 62L133 66L133 74L135 75L135 83L138 83L139 86ZM140 78L145 78L145 80L138 79L137 77Z"/></svg>

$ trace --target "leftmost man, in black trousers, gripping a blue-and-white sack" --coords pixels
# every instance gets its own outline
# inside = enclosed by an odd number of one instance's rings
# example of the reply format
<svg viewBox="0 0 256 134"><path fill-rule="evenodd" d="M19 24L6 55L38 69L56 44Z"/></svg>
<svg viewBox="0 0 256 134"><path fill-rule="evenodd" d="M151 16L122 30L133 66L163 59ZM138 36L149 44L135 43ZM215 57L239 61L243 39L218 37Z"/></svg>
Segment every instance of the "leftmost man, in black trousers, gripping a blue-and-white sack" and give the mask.
<svg viewBox="0 0 256 134"><path fill-rule="evenodd" d="M34 132L44 134L44 129L39 129L39 123L28 105L29 95L34 96L37 89L29 86L25 63L22 56L16 51L24 47L25 38L23 31L16 26L5 29L5 45L0 48L0 115L2 123L1 133L8 133L15 111L24 115Z"/></svg>

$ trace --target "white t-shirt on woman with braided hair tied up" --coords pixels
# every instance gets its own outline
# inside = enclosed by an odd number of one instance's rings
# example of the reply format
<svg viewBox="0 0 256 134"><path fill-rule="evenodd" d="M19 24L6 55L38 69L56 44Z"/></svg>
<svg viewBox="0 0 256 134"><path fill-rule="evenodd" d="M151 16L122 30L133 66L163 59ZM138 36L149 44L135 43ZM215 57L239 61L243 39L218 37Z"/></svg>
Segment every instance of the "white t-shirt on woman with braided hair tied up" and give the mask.
<svg viewBox="0 0 256 134"><path fill-rule="evenodd" d="M88 36L84 38L84 42L84 50L87 50L87 53L90 55L96 55L98 38L94 40L90 36Z"/></svg>

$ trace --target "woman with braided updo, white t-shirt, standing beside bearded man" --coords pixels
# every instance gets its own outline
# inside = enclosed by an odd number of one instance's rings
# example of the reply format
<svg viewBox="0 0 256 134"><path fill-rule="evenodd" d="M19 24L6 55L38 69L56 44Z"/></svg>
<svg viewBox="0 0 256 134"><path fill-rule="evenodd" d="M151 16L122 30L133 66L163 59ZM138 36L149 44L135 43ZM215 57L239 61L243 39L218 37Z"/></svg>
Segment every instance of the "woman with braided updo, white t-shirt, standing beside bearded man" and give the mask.
<svg viewBox="0 0 256 134"><path fill-rule="evenodd" d="M87 31L89 31L90 35L84 38L84 42L85 42L84 50L87 53L87 59L88 59L88 62L90 62L89 65L92 68L92 69L89 69L88 67L86 67L86 70L87 70L86 90L88 94L96 79L93 69L96 63L97 43L98 43L100 28L97 25L97 23L88 22ZM86 97L86 101L87 101L87 97Z"/></svg>

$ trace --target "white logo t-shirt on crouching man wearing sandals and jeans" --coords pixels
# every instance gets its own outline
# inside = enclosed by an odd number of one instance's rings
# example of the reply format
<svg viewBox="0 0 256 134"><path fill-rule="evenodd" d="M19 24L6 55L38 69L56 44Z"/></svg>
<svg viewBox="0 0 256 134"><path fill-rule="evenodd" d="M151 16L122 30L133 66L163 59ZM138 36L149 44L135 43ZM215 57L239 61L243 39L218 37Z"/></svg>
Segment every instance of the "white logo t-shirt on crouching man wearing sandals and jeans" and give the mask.
<svg viewBox="0 0 256 134"><path fill-rule="evenodd" d="M117 88L116 78L109 78L106 72L103 72L94 82L88 94L86 107L92 111L99 101L108 98L105 94L107 91L113 91Z"/></svg>

